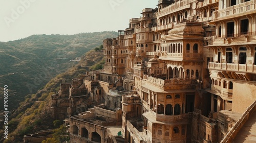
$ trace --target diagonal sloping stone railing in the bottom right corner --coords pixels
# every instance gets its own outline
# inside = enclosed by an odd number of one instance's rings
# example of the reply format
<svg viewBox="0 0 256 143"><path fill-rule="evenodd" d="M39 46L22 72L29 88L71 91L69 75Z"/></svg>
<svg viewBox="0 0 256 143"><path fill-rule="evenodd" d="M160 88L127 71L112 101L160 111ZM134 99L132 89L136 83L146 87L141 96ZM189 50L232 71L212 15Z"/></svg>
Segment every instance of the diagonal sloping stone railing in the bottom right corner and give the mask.
<svg viewBox="0 0 256 143"><path fill-rule="evenodd" d="M254 101L246 111L240 116L239 120L234 124L221 142L233 142L244 124L248 121L250 115L256 110L256 101Z"/></svg>

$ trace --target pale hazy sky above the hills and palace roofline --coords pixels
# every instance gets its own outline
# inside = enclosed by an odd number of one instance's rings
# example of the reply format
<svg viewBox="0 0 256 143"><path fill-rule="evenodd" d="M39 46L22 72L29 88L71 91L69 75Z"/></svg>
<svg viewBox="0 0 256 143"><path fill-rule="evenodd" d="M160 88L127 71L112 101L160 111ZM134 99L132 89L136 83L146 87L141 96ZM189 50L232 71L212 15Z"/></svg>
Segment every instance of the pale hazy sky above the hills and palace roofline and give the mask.
<svg viewBox="0 0 256 143"><path fill-rule="evenodd" d="M157 0L0 0L0 41L34 34L77 34L129 27Z"/></svg>

